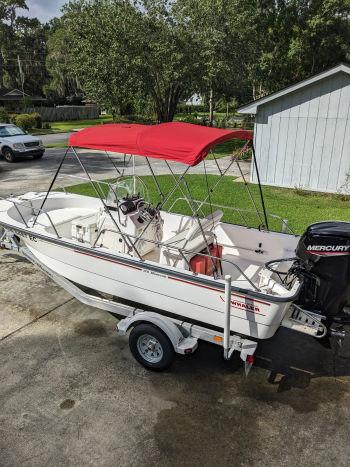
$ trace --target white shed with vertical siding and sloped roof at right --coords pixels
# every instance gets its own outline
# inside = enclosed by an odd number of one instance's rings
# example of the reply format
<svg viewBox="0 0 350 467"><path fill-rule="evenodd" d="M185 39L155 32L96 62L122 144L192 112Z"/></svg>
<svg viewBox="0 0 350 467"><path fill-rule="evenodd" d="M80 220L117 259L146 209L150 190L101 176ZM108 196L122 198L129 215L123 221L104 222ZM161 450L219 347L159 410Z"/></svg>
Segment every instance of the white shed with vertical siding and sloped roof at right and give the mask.
<svg viewBox="0 0 350 467"><path fill-rule="evenodd" d="M350 194L350 66L340 64L238 112L255 115L262 184ZM251 181L257 182L255 170Z"/></svg>

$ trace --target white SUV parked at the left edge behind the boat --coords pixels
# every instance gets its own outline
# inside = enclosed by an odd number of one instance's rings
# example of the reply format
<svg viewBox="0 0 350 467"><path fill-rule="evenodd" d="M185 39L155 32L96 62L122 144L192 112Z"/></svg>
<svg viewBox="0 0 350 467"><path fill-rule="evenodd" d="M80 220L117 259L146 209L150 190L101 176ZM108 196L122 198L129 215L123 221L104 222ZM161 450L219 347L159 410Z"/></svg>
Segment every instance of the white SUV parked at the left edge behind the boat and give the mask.
<svg viewBox="0 0 350 467"><path fill-rule="evenodd" d="M32 156L41 159L45 149L43 142L28 135L10 123L0 123L0 154L7 162L15 162L16 157Z"/></svg>

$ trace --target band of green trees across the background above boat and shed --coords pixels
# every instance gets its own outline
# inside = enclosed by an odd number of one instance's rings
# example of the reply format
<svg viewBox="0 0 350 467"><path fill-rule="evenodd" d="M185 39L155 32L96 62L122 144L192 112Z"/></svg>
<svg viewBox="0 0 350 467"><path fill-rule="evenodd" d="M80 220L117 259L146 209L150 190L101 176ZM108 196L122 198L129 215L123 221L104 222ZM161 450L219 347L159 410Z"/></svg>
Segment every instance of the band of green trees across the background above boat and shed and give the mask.
<svg viewBox="0 0 350 467"><path fill-rule="evenodd" d="M0 89L24 77L29 94L151 104L159 121L194 93L244 102L350 58L350 0L72 0L46 25L26 7L0 0Z"/></svg>

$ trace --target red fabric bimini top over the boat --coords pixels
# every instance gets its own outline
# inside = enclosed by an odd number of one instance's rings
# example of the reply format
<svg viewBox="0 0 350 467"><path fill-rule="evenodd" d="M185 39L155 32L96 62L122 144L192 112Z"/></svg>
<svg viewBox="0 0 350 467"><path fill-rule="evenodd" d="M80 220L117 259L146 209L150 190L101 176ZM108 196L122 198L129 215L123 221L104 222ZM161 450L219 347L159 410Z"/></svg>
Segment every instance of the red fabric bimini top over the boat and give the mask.
<svg viewBox="0 0 350 467"><path fill-rule="evenodd" d="M252 140L249 130L222 130L190 123L159 125L108 124L74 133L69 145L78 148L154 157L194 166L210 149L231 139Z"/></svg>

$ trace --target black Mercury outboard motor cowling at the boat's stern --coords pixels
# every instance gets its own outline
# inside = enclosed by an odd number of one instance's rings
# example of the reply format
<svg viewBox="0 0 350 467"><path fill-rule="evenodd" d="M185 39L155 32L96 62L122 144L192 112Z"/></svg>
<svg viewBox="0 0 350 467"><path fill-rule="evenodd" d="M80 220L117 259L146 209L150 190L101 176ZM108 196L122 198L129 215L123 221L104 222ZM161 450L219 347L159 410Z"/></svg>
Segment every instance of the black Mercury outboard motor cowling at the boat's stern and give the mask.
<svg viewBox="0 0 350 467"><path fill-rule="evenodd" d="M310 225L296 250L303 264L298 304L333 318L350 301L350 222Z"/></svg>

